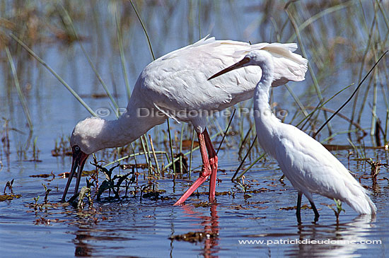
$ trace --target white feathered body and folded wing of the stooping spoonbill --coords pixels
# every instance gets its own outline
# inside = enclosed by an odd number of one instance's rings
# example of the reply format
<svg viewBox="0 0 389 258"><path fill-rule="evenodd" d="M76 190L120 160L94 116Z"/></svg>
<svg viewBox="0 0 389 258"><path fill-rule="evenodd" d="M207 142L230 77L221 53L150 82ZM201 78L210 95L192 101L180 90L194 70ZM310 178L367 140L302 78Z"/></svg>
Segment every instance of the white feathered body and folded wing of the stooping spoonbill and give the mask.
<svg viewBox="0 0 389 258"><path fill-rule="evenodd" d="M274 57L273 86L304 79L307 60L291 52L296 44L250 45L211 37L153 61L142 71L134 90L140 90L145 100L152 101L169 117L192 122L197 131L202 131L211 111L252 98L262 75L258 66L237 69L207 81L212 74L236 63L252 49L265 49Z"/></svg>

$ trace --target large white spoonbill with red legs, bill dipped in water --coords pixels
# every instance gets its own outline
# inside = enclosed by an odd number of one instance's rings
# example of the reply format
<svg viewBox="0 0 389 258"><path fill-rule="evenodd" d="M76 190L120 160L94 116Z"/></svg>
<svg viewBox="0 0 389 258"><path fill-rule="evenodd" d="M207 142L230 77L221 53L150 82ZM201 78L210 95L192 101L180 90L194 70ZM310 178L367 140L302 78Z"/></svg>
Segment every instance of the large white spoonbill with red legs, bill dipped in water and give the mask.
<svg viewBox="0 0 389 258"><path fill-rule="evenodd" d="M77 168L74 193L78 192L83 165L91 153L131 143L170 117L178 122L193 124L199 138L203 164L199 179L175 205L182 204L209 176L209 201L213 202L218 161L206 129L207 117L214 111L252 98L261 69L251 66L213 81L207 81L207 78L223 67L236 63L251 50L264 49L274 58L272 86L287 81L302 81L307 70L307 60L292 53L296 48L296 44L250 45L205 37L151 62L139 75L127 112L112 121L87 118L74 127L70 139L73 160L62 201L65 200Z"/></svg>

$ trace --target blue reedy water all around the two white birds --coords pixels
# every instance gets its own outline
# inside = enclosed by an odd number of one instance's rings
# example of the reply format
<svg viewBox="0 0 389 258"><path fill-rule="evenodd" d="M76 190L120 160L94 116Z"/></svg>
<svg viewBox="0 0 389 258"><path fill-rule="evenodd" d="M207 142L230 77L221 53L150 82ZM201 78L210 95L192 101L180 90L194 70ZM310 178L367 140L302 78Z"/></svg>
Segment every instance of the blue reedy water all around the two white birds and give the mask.
<svg viewBox="0 0 389 258"><path fill-rule="evenodd" d="M7 3L12 6L13 1ZM42 11L41 3L39 3L33 2L32 5L36 5ZM74 3L71 1L71 5ZM197 2L179 1L180 4L176 6L170 1L163 4L160 1L152 3L142 7L141 16L148 26L156 57L198 39ZM243 1L228 1L228 4L212 4L215 2L202 1L201 3L202 36L210 33L217 39L250 40L252 42L277 41L274 27L271 23L267 23L269 17L252 8L248 2L242 4ZM279 27L286 19L286 14L280 11L283 4L277 2L270 10ZM69 8L72 10L71 15L74 16L74 23L80 35L87 37L83 41L83 45L91 54L92 61L97 64L103 79L110 85L110 90L117 91L120 107L125 107L127 96L124 90L120 54L115 42L116 27L115 19L112 18L115 17L112 16L112 6L100 3L95 8L81 7L80 10L75 7ZM137 17L134 16L132 7L128 4L121 7L119 13L122 17L122 23L131 24L129 28L124 26L123 36L129 84L132 86L141 69L152 59L143 30L141 30ZM261 8L265 7L260 6ZM320 8L309 10L312 13L318 13ZM8 15L11 16L9 13L12 11L8 11ZM366 23L370 23L373 16L372 7L366 6L365 11ZM278 12L281 13L280 16L275 16L274 13ZM93 15L88 16L87 14L90 13ZM157 17L155 13L160 15ZM307 11L306 14L308 15L309 12ZM44 20L44 17L41 16L42 13L37 12L35 15L38 20ZM335 15L342 16L342 12L325 17L334 22L333 20L338 17ZM264 17L265 21L261 23L260 19ZM129 18L129 20L124 18ZM283 22L281 23L280 20ZM233 24L232 29L231 23ZM53 18L52 24L59 27L59 19ZM348 34L339 33L342 25L336 25L339 27L334 25L332 30L328 32L331 38L349 37ZM286 26L286 30L292 31L289 25ZM366 43L366 31L363 28L361 30L361 35L356 35L356 45L358 42ZM182 31L185 33L181 33ZM303 33L307 34L307 31L303 31ZM291 32L284 32L284 35L281 35L281 41L284 42L290 36ZM323 37L325 36L323 35ZM315 42L310 42L307 35L305 38L304 44L308 50L308 59L312 62L313 69L318 75L325 99L332 97L344 86L358 81L359 66L353 64L352 60L348 60L354 54L349 50L349 47L337 46L338 55L332 60L334 63L328 67L324 65L328 60L318 61L318 58L310 58L315 56L315 47L317 46ZM14 43L12 42L12 44ZM364 46L362 43L360 45ZM101 115L106 115L105 117L110 119L115 118L108 98L91 98L92 93L103 93L103 90L77 42L70 45L60 42L53 39L52 34L46 31L45 40L31 44L34 51L74 87L74 90L83 96L95 112L100 110ZM363 51L362 47L359 50ZM332 54L328 49L323 51L326 53L325 56ZM249 190L257 190L258 193L250 194L250 197L245 196L242 187L231 182L231 177L240 163L238 157L240 144L238 118L233 120L233 129L231 129L231 131L236 132L235 136L227 136L226 143L223 143L224 148L219 153L219 183L216 192L225 194L217 196L215 205L197 205L207 201L207 194L202 194L202 192L208 191L206 183L199 188L200 194L194 194L184 206L173 206L176 199L185 192L189 182L197 178L199 171L196 166L200 164L199 151L194 151L192 168L195 169L190 179L187 178L186 174L173 180L172 175L169 174L164 177L156 177L149 175L146 170L139 170L137 186L154 184L156 189L166 191L161 193L163 197L168 197L164 200L149 198L140 200L140 194L137 192L136 197L129 194L129 198L120 201L108 201L107 195L104 195L102 201L94 202L93 209L86 208L83 212L77 211L72 206L59 204L67 180L60 177L59 174L69 171L71 159L52 156L54 141L60 136L69 136L74 124L89 114L42 65L30 59L23 49L17 53L13 59L15 59L19 81L33 117L34 131L32 140L28 141L25 115L13 86L9 64L4 59L1 62L3 72L0 73L2 82L0 86L0 102L2 104L0 105L0 113L1 117L9 120L11 153L6 155L6 147L4 147L4 143L1 143L0 190L3 190L7 181L14 180L13 193L21 194L21 198L0 202L0 233L3 237L0 245L1 257L24 257L27 255L30 257L71 255L95 257L385 257L386 247L389 244L387 230L389 214L386 212L389 183L383 177L388 177L388 168L381 168L378 182L373 185L370 179L364 178L369 175L370 166L364 160L356 160L355 151L350 156L350 160L347 159L348 151L333 151L332 153L335 153L356 177L361 178L361 183L371 190L371 199L378 208L378 214L375 218L356 216L356 213L344 204L343 208L346 212L341 213L339 224L337 224L333 211L324 205L332 204L333 201L315 196L315 204L320 212L319 222L313 224L313 211L303 209L301 211L303 224L298 225L295 216L296 210L287 209L296 206L297 193L288 180L279 181L281 171L274 160L267 158L260 161L245 175L245 182L250 185ZM347 58L342 59L342 57ZM381 78L381 81L383 80ZM310 74L307 74L306 81L289 83L303 104L307 106L315 106L318 102L315 90L312 88L312 81ZM345 90L339 95L339 99L329 102L326 107L336 110L339 103L349 97L352 89ZM290 114L285 121L291 122L293 120L292 123L296 124L299 119L294 120L292 117L298 108L291 95L281 87L274 89L273 94L273 100L279 102L280 108L287 110ZM372 91L368 91L366 98L371 100L373 95ZM386 114L384 98L385 95L378 94L377 117L381 121L385 121ZM360 102L361 98L359 98ZM351 110L350 103L342 110L342 114L349 117ZM369 131L371 109L365 108L362 114L366 118L361 119L361 126ZM323 115L320 115L319 120L324 120ZM223 118L219 118L217 121L222 126L226 123ZM4 125L4 120L1 120L0 124ZM248 121L245 120L243 127L245 133L248 130ZM335 131L345 131L348 128L348 123L344 124L344 120L335 117L332 120L332 127ZM173 128L173 134L177 133L180 131L181 125L173 124ZM18 129L18 131L13 129ZM149 134L153 137L159 137L159 140L155 141L156 148L165 151L161 140L162 130L166 130L166 124L152 129ZM185 128L185 130L187 129ZM3 137L4 132L0 131L2 133L0 136ZM216 132L217 129L213 122L210 122L210 134L213 135ZM190 130L185 131L186 134L190 135ZM33 158L32 145L35 137L37 137L38 159L40 161L26 161ZM327 131L323 131L320 139L323 140L325 137L327 137ZM219 145L220 140L221 138L217 139L215 146ZM355 136L353 136L353 141L355 141ZM177 142L177 138L175 138L175 142ZM26 148L28 143L30 146ZM331 143L349 145L347 134L336 136ZM366 136L359 143L359 145L363 144L373 146L374 139ZM26 151L23 152L23 150ZM176 151L178 152L178 150ZM243 155L244 153L245 151L243 151ZM388 151L367 149L361 153L364 153L366 158L388 163ZM253 150L252 156L246 160L246 164L250 164L257 156L259 153ZM98 158L101 157L103 155L98 153ZM144 162L142 158L137 161ZM126 162L134 163L134 160L126 160ZM92 169L91 165L86 166L86 170ZM54 176L31 177L51 172ZM122 170L121 172L129 171ZM85 178L83 177L81 186L85 185ZM100 180L103 180L103 177ZM48 197L50 206L35 210L33 198L39 197L38 204L42 204L45 198L42 183L52 189ZM130 190L132 189L133 187L130 187ZM71 188L71 192L72 190ZM6 192L9 193L9 189L6 189ZM308 204L304 198L303 204ZM173 235L183 235L190 232L209 234L210 238L197 242L170 239ZM243 244L240 243L242 240L257 240L258 242ZM296 240L300 242L296 242ZM309 244L307 243L309 240L327 242ZM350 241L373 240L381 242L371 245L349 244Z"/></svg>

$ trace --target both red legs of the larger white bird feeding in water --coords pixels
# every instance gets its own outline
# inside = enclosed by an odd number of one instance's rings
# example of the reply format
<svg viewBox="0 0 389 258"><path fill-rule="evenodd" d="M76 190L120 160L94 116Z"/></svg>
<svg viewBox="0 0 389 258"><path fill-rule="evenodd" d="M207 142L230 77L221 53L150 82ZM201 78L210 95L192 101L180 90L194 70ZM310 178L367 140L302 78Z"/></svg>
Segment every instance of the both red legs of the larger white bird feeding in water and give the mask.
<svg viewBox="0 0 389 258"><path fill-rule="evenodd" d="M197 137L199 138L200 153L202 155L202 171L200 172L199 178L192 184L191 187L189 187L189 189L187 189L187 192L185 192L185 194L183 194L182 197L178 199L178 201L174 205L182 204L205 180L208 179L209 175L213 174L212 168L215 168L214 157L216 156L216 152L212 147L211 139L209 139L207 129L205 129L202 133L197 133ZM212 153L211 154L212 156L210 157L208 157L207 148L214 151L214 153ZM210 161L213 163L212 168L211 165L209 164ZM217 168L217 157L216 157L216 168ZM215 182L214 184L214 189L215 189L216 175L215 175L214 182ZM213 197L215 196L215 194L212 195ZM209 200L211 201L211 193L209 193Z"/></svg>

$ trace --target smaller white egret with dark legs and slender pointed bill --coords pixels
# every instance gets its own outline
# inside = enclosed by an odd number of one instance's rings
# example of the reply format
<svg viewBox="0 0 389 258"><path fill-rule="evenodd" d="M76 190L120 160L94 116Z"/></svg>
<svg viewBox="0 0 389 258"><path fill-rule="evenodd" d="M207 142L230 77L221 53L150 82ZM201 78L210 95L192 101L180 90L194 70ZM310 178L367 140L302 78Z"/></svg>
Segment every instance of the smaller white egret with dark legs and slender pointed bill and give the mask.
<svg viewBox="0 0 389 258"><path fill-rule="evenodd" d="M274 80L276 64L269 52L254 49L236 64L209 78L214 79L241 67L260 66L262 77L254 92L255 127L262 148L275 158L284 175L298 191L297 221L301 223L301 197L304 194L315 212L312 194L344 201L359 214L375 214L376 206L347 168L330 151L308 134L291 124L282 123L272 113L269 105L269 88ZM236 70L239 71L240 69ZM220 78L218 77L218 78Z"/></svg>

